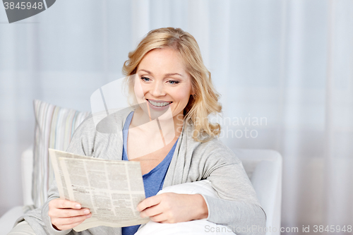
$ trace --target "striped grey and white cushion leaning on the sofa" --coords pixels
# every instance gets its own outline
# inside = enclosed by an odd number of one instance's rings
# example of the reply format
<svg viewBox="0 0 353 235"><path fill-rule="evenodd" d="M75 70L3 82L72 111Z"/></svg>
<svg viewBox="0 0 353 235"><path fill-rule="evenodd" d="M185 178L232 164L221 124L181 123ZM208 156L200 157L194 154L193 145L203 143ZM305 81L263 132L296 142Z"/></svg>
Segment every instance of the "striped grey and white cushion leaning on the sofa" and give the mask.
<svg viewBox="0 0 353 235"><path fill-rule="evenodd" d="M48 148L66 150L75 129L90 115L34 100L35 145L33 150L32 199L35 207L47 200L49 185L54 177Z"/></svg>

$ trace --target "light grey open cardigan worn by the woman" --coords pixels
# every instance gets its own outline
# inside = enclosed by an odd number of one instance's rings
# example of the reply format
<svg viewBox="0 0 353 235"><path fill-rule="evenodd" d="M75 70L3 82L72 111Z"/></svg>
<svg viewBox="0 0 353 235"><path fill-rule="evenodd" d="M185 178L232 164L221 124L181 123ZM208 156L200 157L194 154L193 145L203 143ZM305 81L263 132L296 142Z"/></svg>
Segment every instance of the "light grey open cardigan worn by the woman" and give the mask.
<svg viewBox="0 0 353 235"><path fill-rule="evenodd" d="M92 116L88 117L76 129L67 152L104 159L121 159L121 130L130 112L131 109L115 112L100 121L97 127ZM193 140L192 130L192 126L185 122L163 188L208 179L219 196L213 198L203 195L208 206L208 221L224 224L238 235L265 234L261 231L261 228L265 229L265 212L258 203L256 192L241 161L218 138L205 143ZM17 222L25 219L35 233L40 235L121 235L121 228L112 227L95 227L79 233L72 229L57 231L52 227L48 215L49 201L59 198L56 181L49 188L48 195L49 199L42 208L30 210Z"/></svg>

